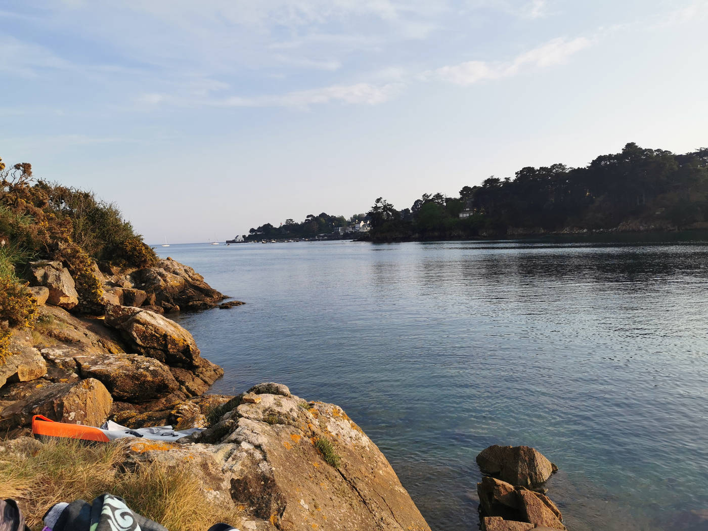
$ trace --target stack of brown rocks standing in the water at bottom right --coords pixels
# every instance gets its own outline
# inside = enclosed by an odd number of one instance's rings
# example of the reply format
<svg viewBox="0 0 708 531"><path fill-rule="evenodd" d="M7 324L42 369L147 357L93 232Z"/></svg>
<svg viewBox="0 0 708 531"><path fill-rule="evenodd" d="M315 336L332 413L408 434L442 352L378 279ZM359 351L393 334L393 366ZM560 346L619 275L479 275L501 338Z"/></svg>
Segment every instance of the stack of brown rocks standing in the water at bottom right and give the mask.
<svg viewBox="0 0 708 531"><path fill-rule="evenodd" d="M483 531L566 529L561 511L542 488L558 469L527 446L493 445L477 456L484 476L477 484Z"/></svg>

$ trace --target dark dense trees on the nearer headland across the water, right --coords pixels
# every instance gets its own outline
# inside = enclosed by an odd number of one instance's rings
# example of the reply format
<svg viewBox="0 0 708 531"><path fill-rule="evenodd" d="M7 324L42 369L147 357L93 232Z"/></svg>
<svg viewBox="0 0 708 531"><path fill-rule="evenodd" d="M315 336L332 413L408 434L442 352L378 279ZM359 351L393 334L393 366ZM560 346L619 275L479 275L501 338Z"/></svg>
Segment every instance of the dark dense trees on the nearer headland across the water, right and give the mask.
<svg viewBox="0 0 708 531"><path fill-rule="evenodd" d="M372 239L703 227L708 221L708 149L677 155L630 143L585 168L526 167L514 178L492 176L479 186L464 186L459 194L424 194L400 211L378 198L368 212ZM459 217L461 212L465 217Z"/></svg>

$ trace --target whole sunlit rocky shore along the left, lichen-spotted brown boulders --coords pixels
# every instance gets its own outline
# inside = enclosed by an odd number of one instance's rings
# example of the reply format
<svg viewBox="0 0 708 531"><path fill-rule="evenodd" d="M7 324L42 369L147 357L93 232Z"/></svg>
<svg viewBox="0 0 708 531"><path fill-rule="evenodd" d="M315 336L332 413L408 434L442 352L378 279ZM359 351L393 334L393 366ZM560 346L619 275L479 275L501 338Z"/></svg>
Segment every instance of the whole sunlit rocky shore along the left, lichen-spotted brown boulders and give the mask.
<svg viewBox="0 0 708 531"><path fill-rule="evenodd" d="M213 503L243 509L241 531L430 530L387 459L338 406L274 383L238 396L203 394L223 371L165 313L226 297L192 268L170 258L139 270L94 265L105 312L85 316L64 264L31 267L39 318L34 329L12 331L0 365L8 438L0 452L41 451L28 438L38 414L87 426L110 419L206 428L180 442L115 442L124 452L119 468L187 467ZM18 502L28 513L28 501Z"/></svg>

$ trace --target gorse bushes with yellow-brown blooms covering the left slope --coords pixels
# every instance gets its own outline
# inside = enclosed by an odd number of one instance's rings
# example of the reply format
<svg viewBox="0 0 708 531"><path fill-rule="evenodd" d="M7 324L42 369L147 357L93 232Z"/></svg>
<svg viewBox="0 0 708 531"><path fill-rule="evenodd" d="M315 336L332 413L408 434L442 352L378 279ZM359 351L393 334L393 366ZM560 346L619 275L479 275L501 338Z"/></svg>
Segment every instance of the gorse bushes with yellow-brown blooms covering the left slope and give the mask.
<svg viewBox="0 0 708 531"><path fill-rule="evenodd" d="M35 181L30 164L6 168L0 159L0 355L8 326L32 324L35 300L23 279L36 259L64 263L79 292L77 309L100 313L103 292L93 260L145 267L157 258L115 205L91 192Z"/></svg>

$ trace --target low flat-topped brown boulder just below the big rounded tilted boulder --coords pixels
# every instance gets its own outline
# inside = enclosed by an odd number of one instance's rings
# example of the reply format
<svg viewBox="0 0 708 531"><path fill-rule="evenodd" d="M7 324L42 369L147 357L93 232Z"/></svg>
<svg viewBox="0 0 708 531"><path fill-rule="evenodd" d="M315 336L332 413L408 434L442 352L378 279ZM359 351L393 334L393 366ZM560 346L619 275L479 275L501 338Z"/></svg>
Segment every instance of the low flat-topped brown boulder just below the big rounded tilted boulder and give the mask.
<svg viewBox="0 0 708 531"><path fill-rule="evenodd" d="M74 358L83 378L96 378L114 399L147 402L179 389L169 367L138 354L93 354Z"/></svg>

